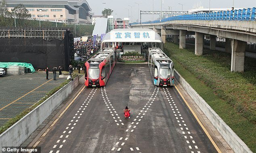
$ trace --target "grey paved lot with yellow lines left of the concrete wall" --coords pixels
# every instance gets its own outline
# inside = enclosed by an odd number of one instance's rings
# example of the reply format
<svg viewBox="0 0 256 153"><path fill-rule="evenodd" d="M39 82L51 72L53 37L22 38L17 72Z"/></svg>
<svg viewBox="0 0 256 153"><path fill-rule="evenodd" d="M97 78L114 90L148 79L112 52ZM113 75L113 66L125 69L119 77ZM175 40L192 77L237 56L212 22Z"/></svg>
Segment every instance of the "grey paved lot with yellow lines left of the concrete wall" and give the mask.
<svg viewBox="0 0 256 153"><path fill-rule="evenodd" d="M51 72L50 80L46 80L43 72L0 77L0 126L31 107L47 92L65 81L65 78L58 78L58 73L57 81L52 78Z"/></svg>

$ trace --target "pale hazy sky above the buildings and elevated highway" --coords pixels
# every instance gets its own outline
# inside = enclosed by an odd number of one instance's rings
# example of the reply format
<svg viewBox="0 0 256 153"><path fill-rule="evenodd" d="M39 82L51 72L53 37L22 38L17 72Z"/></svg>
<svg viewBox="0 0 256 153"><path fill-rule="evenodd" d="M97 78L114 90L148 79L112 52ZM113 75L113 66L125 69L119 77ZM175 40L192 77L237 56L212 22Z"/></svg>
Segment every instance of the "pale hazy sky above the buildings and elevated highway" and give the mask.
<svg viewBox="0 0 256 153"><path fill-rule="evenodd" d="M111 8L113 11L113 16L118 18L128 17L128 10L130 9L130 16L132 14L132 20L135 22L138 19L138 4L140 4L140 10L160 10L161 0L87 0L92 12L95 15L101 15L103 10L103 2L105 2L105 8ZM181 11L181 5L183 5L183 11L187 11L193 8L193 4L201 3L204 8L209 8L209 0L163 0L162 10L169 10L168 6L172 7L172 10ZM180 3L180 4L178 4ZM131 10L131 7L132 10ZM235 8L252 8L256 6L256 0L234 0ZM233 6L233 0L211 0L210 8L231 8ZM132 11L132 13L131 13ZM154 15L154 19L159 17L159 15ZM143 14L142 21L152 20L152 14Z"/></svg>

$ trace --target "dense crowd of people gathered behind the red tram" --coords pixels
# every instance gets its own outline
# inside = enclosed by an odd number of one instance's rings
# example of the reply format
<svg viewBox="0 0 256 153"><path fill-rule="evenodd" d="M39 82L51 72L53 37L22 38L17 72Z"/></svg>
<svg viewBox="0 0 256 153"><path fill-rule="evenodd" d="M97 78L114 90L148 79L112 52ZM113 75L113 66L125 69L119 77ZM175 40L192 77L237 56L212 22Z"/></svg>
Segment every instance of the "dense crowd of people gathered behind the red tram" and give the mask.
<svg viewBox="0 0 256 153"><path fill-rule="evenodd" d="M82 52L82 47L86 48L86 53ZM96 53L101 48L101 41L96 40L95 45L93 46L93 38L88 39L87 41L77 41L74 42L74 51L78 57L85 57L88 59L90 55Z"/></svg>

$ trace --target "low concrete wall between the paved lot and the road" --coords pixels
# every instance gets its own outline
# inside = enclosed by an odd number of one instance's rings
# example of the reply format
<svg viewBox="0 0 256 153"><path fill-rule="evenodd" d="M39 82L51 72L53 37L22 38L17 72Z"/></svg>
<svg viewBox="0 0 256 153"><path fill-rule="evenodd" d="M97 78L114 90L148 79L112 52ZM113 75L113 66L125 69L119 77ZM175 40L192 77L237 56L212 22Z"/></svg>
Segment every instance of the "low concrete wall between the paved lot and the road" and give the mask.
<svg viewBox="0 0 256 153"><path fill-rule="evenodd" d="M78 85L79 77L76 77L4 131L0 135L0 152L2 147L19 147Z"/></svg>

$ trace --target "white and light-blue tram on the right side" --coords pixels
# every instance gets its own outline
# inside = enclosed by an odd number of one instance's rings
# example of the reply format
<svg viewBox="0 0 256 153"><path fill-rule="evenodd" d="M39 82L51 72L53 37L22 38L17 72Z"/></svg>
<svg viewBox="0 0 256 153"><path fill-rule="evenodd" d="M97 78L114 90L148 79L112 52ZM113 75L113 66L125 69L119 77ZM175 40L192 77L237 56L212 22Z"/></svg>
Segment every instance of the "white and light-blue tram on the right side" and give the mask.
<svg viewBox="0 0 256 153"><path fill-rule="evenodd" d="M159 48L149 48L149 70L155 86L174 86L174 63Z"/></svg>

